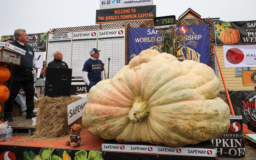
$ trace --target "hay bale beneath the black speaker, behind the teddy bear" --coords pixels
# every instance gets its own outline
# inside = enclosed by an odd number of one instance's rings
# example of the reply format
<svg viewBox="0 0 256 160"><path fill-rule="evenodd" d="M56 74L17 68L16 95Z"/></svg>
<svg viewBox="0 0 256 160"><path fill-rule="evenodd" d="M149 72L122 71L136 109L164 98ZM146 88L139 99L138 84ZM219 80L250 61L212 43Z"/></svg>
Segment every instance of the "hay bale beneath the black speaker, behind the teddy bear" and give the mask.
<svg viewBox="0 0 256 160"><path fill-rule="evenodd" d="M39 108L37 128L33 132L33 135L29 136L28 139L54 138L68 135L70 127L75 123L81 125L82 128L85 128L82 124L82 118L67 125L66 105L76 102L79 99L81 99L79 96L54 98L48 96L41 97L41 100L37 105Z"/></svg>

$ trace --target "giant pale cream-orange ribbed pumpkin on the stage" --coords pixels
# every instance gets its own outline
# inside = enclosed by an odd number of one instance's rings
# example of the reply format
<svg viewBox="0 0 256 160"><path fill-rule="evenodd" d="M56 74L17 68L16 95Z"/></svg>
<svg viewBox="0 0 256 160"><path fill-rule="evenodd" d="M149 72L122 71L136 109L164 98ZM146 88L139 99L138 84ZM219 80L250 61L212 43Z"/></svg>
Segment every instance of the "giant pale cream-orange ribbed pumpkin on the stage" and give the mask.
<svg viewBox="0 0 256 160"><path fill-rule="evenodd" d="M218 94L211 67L145 50L90 89L82 121L91 134L117 142L197 144L229 129L230 110Z"/></svg>

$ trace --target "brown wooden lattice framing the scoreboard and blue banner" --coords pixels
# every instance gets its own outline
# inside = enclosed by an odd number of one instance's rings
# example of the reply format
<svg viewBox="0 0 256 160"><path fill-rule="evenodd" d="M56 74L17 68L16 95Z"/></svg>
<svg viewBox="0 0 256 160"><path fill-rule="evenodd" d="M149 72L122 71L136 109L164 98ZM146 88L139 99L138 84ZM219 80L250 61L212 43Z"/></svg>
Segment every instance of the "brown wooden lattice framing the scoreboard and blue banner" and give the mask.
<svg viewBox="0 0 256 160"><path fill-rule="evenodd" d="M213 41L213 23L211 18L195 18L195 19L180 19L176 20L176 25L209 25L210 29L210 56L211 56L211 67L215 68L214 63L214 41ZM80 26L80 27L66 27L66 28L54 28L50 29L48 33L55 32L71 32L71 31L86 31L86 30L97 30L97 29L110 29L110 28L120 28L125 27L125 32L128 35L129 29L131 28L148 28L154 27L153 20L145 20L145 21L132 21L132 22L120 22L120 23L109 23L109 24L99 24L99 25L88 25L88 26ZM125 40L126 51L125 51L125 61L128 64L128 36L126 36Z"/></svg>

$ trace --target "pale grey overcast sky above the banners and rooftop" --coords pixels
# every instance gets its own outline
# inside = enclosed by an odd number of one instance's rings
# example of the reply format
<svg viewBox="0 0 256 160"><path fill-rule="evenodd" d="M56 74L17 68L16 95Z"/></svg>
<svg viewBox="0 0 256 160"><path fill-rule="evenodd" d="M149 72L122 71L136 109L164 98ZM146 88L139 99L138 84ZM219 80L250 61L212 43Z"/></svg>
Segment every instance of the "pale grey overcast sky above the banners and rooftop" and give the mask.
<svg viewBox="0 0 256 160"><path fill-rule="evenodd" d="M53 28L95 25L99 0L2 0L0 36L13 35L17 28L28 34L46 33ZM256 20L255 0L153 0L157 17L175 15L179 18L188 8L201 18L222 21Z"/></svg>

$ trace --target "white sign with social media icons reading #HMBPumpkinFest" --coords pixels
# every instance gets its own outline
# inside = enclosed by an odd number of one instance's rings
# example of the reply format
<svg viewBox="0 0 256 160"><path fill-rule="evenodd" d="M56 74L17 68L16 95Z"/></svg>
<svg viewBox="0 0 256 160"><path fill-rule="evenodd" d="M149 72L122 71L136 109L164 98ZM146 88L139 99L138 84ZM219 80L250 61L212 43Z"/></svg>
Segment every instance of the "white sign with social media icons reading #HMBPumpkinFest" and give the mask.
<svg viewBox="0 0 256 160"><path fill-rule="evenodd" d="M153 0L100 0L99 9L153 5Z"/></svg>

